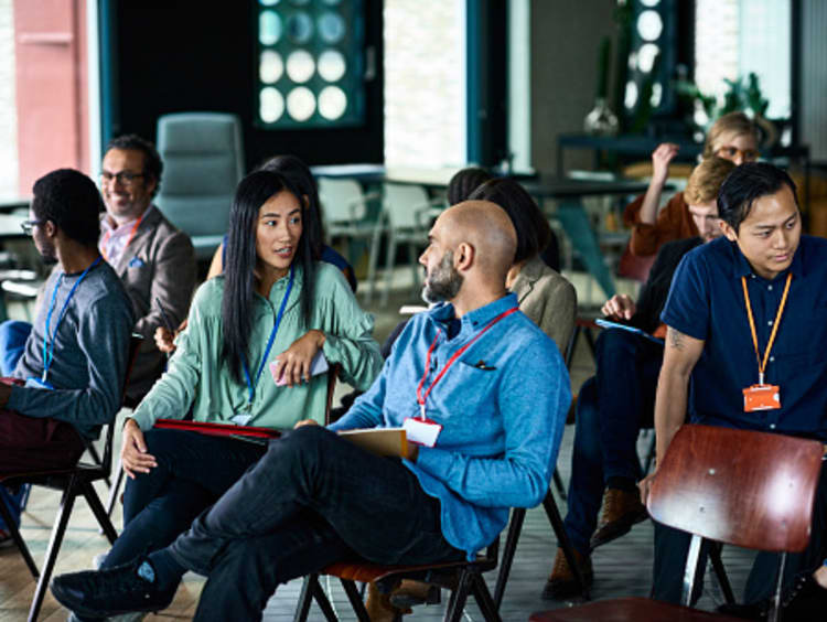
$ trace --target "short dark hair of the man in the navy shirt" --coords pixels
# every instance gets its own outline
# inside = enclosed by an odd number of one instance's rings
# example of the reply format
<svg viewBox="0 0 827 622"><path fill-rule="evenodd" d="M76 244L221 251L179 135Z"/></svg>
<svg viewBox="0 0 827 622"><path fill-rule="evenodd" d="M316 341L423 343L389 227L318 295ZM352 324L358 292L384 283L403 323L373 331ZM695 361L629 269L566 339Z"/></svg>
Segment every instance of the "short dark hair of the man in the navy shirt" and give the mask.
<svg viewBox="0 0 827 622"><path fill-rule="evenodd" d="M767 162L745 162L729 174L718 192L718 216L738 233L756 199L775 194L786 184L798 205L795 182Z"/></svg>

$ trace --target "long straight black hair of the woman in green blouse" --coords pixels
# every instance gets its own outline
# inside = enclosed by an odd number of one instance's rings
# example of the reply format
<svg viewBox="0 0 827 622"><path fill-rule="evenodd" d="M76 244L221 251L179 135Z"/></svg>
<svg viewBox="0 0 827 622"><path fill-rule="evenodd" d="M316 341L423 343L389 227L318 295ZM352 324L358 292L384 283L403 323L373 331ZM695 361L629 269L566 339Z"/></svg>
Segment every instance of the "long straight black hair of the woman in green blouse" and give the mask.
<svg viewBox="0 0 827 622"><path fill-rule="evenodd" d="M310 313L315 287L315 258L313 246L320 244L318 212L304 205L302 192L284 175L272 171L256 171L244 178L233 200L227 233L227 256L224 269L224 298L222 323L224 348L222 356L233 378L244 382L243 357L247 356L253 328L253 299L256 289L256 227L258 211L270 197L287 191L299 201L302 208L302 234L293 257L293 266L302 269L303 285L299 291L301 317L310 325Z"/></svg>

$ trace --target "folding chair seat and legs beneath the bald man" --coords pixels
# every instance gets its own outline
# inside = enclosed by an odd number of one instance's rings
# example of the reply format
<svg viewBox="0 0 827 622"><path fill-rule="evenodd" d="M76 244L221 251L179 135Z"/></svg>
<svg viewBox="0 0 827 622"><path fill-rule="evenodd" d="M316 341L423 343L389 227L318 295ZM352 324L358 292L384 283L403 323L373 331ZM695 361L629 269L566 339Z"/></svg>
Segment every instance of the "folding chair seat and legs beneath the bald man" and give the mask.
<svg viewBox="0 0 827 622"><path fill-rule="evenodd" d="M324 568L321 572L314 572L304 577L304 585L299 596L299 604L296 609L293 621L305 622L308 620L310 604L313 599L315 599L329 622L336 622L339 620L319 582L320 575L330 575L331 577L337 577L342 582L342 588L345 594L347 594L347 600L351 602L359 622L370 622L370 618L367 614L355 582L374 581L395 585L401 579L426 581L451 590L451 598L448 601L448 608L443 618L445 622L459 622L469 594L474 596L487 622L498 622L501 618L497 612L497 605L491 597L491 591L488 591L488 587L485 585L485 579L482 577L483 572L496 568L498 549L500 538L497 537L485 553L477 556L474 561L453 561L419 566L380 566L366 561L333 564Z"/></svg>

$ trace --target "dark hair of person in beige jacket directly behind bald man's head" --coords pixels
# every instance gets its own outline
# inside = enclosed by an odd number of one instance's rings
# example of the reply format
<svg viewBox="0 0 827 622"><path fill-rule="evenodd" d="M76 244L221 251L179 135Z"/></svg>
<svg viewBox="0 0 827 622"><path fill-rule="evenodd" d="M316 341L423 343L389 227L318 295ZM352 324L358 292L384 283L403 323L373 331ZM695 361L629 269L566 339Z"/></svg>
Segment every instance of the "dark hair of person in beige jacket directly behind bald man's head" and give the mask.
<svg viewBox="0 0 827 622"><path fill-rule="evenodd" d="M469 199L491 201L508 214L517 233L515 264L537 256L551 240L551 227L546 216L526 189L513 179L488 180L472 192Z"/></svg>

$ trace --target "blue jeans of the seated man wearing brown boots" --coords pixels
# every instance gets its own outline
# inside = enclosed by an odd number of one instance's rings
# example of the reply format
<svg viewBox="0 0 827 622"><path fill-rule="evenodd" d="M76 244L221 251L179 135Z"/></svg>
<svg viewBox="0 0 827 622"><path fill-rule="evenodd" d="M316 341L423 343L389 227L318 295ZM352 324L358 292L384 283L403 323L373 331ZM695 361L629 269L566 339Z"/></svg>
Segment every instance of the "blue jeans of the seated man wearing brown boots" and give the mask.
<svg viewBox="0 0 827 622"><path fill-rule="evenodd" d="M603 490L610 478L640 480L637 435L652 426L663 346L621 329L600 333L597 375L577 398L568 512L572 546L590 551Z"/></svg>

